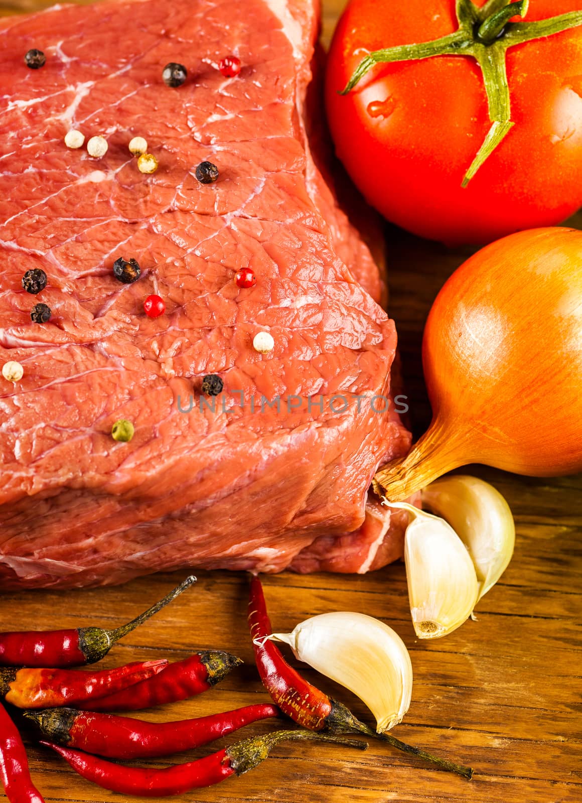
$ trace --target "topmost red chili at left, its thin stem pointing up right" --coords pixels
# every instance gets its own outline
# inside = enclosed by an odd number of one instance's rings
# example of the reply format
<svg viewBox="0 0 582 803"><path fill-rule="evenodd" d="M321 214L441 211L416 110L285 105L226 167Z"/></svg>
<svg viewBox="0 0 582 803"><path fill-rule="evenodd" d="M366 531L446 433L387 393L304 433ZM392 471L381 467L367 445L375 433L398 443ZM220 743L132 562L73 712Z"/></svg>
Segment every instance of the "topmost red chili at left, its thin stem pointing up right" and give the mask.
<svg viewBox="0 0 582 803"><path fill-rule="evenodd" d="M76 630L32 630L0 633L0 666L83 666L104 658L112 646L136 627L142 625L154 613L176 599L182 591L196 582L196 577L185 581L171 591L163 600L140 613L127 625L115 630L100 627L79 627Z"/></svg>

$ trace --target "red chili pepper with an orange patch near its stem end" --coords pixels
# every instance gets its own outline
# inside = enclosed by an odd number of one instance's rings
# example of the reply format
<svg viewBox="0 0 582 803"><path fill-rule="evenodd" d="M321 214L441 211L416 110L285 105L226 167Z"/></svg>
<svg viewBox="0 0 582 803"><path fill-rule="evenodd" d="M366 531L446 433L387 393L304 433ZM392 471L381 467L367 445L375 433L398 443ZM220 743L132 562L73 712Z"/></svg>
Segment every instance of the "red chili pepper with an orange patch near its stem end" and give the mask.
<svg viewBox="0 0 582 803"><path fill-rule="evenodd" d="M167 665L167 661L144 661L101 672L0 669L0 698L18 708L55 708L64 703L82 703L134 686Z"/></svg>

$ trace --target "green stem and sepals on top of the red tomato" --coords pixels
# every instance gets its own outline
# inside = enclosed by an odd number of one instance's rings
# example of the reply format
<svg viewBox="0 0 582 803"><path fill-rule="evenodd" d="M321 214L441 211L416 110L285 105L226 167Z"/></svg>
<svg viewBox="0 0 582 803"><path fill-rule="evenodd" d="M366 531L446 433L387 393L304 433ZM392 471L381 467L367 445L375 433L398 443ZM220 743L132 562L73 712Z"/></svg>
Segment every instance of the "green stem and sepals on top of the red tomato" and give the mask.
<svg viewBox="0 0 582 803"><path fill-rule="evenodd" d="M507 81L508 48L582 25L582 11L570 11L536 22L510 22L516 16L523 18L528 7L529 0L489 0L482 8L474 6L471 0L456 0L457 31L432 42L385 47L369 53L360 61L340 95L351 92L378 63L417 61L438 55L472 56L481 67L491 126L462 179L462 187L466 187L514 125Z"/></svg>

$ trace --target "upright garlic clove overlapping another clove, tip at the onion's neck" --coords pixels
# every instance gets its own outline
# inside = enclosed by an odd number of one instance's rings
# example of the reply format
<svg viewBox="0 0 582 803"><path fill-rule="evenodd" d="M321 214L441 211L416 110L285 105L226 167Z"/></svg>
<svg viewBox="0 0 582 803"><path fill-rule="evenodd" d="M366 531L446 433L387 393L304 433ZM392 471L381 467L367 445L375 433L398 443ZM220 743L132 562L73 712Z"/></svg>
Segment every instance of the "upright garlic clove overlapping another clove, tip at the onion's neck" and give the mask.
<svg viewBox="0 0 582 803"><path fill-rule="evenodd" d="M405 533L410 613L418 638L440 638L473 612L478 580L465 544L445 520L406 503L413 520Z"/></svg>

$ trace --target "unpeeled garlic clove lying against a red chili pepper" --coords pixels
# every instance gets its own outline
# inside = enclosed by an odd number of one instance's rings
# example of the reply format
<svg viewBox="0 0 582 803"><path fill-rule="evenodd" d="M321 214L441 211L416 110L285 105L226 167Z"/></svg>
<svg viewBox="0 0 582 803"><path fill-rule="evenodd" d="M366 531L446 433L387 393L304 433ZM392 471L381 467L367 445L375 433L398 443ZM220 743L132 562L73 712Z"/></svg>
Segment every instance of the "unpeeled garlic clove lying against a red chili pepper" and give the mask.
<svg viewBox="0 0 582 803"><path fill-rule="evenodd" d="M413 691L408 650L391 627L365 613L322 613L292 633L274 633L295 658L348 688L366 703L383 733L402 721Z"/></svg>

